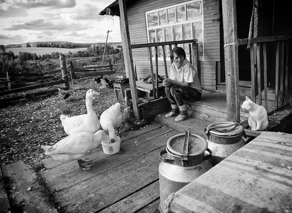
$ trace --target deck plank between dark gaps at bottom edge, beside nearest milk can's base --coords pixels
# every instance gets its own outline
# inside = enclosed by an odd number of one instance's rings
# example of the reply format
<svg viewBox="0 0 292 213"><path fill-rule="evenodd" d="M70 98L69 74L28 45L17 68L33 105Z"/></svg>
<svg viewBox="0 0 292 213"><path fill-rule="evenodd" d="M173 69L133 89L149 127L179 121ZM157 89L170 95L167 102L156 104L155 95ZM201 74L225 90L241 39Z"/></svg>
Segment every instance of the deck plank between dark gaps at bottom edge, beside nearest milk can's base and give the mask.
<svg viewBox="0 0 292 213"><path fill-rule="evenodd" d="M159 199L159 181L100 211L100 213L135 212ZM159 204L158 204L159 205Z"/></svg>

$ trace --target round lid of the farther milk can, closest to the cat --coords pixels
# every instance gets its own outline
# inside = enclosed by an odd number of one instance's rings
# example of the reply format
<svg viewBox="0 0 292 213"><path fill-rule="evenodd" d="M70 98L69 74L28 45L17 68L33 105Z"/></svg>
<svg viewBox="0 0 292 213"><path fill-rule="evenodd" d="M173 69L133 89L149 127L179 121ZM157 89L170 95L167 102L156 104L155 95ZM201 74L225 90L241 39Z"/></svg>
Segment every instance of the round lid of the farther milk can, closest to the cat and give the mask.
<svg viewBox="0 0 292 213"><path fill-rule="evenodd" d="M219 122L207 126L205 133L217 136L235 136L243 132L243 125L235 122Z"/></svg>

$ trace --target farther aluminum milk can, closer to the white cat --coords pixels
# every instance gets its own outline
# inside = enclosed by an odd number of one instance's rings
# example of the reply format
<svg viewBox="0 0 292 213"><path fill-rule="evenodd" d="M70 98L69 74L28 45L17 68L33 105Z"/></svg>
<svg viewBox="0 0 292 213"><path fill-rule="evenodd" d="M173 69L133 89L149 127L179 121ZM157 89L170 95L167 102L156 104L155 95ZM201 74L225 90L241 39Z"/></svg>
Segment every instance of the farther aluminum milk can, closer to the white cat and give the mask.
<svg viewBox="0 0 292 213"><path fill-rule="evenodd" d="M208 148L212 151L210 162L213 166L227 158L246 143L243 125L234 122L219 122L210 124L206 129Z"/></svg>

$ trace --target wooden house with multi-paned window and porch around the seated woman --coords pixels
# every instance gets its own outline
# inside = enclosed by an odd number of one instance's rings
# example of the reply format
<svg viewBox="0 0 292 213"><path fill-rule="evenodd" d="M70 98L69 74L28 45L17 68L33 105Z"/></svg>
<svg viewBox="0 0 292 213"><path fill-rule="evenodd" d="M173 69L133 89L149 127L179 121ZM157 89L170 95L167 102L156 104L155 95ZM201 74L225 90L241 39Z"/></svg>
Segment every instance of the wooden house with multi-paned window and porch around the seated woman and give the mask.
<svg viewBox="0 0 292 213"><path fill-rule="evenodd" d="M189 115L208 122L247 120L245 95L268 112L292 101L291 11L274 0L116 0L100 15L120 17L127 77L135 117L168 110L163 88L143 79L169 75L169 51L183 47L203 87L186 101ZM142 84L142 85L141 85ZM144 83L145 84L145 83ZM137 90L154 91L141 103ZM227 108L227 109L226 109ZM162 116L161 116L162 117Z"/></svg>

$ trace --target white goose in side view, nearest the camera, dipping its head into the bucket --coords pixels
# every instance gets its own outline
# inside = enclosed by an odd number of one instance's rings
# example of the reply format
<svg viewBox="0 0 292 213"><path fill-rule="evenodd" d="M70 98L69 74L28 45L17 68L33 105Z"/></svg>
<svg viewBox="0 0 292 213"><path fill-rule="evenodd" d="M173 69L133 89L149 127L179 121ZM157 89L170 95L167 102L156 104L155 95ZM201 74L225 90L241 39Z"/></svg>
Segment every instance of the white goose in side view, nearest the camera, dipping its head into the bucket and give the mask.
<svg viewBox="0 0 292 213"><path fill-rule="evenodd" d="M76 132L60 140L53 146L41 146L41 148L45 150L45 155L49 154L55 160L62 162L77 160L81 169L89 170L91 166L85 167L85 165L90 161L83 161L81 158L85 153L99 146L101 141L109 143L109 138L103 130L99 130L94 134L89 132Z"/></svg>

